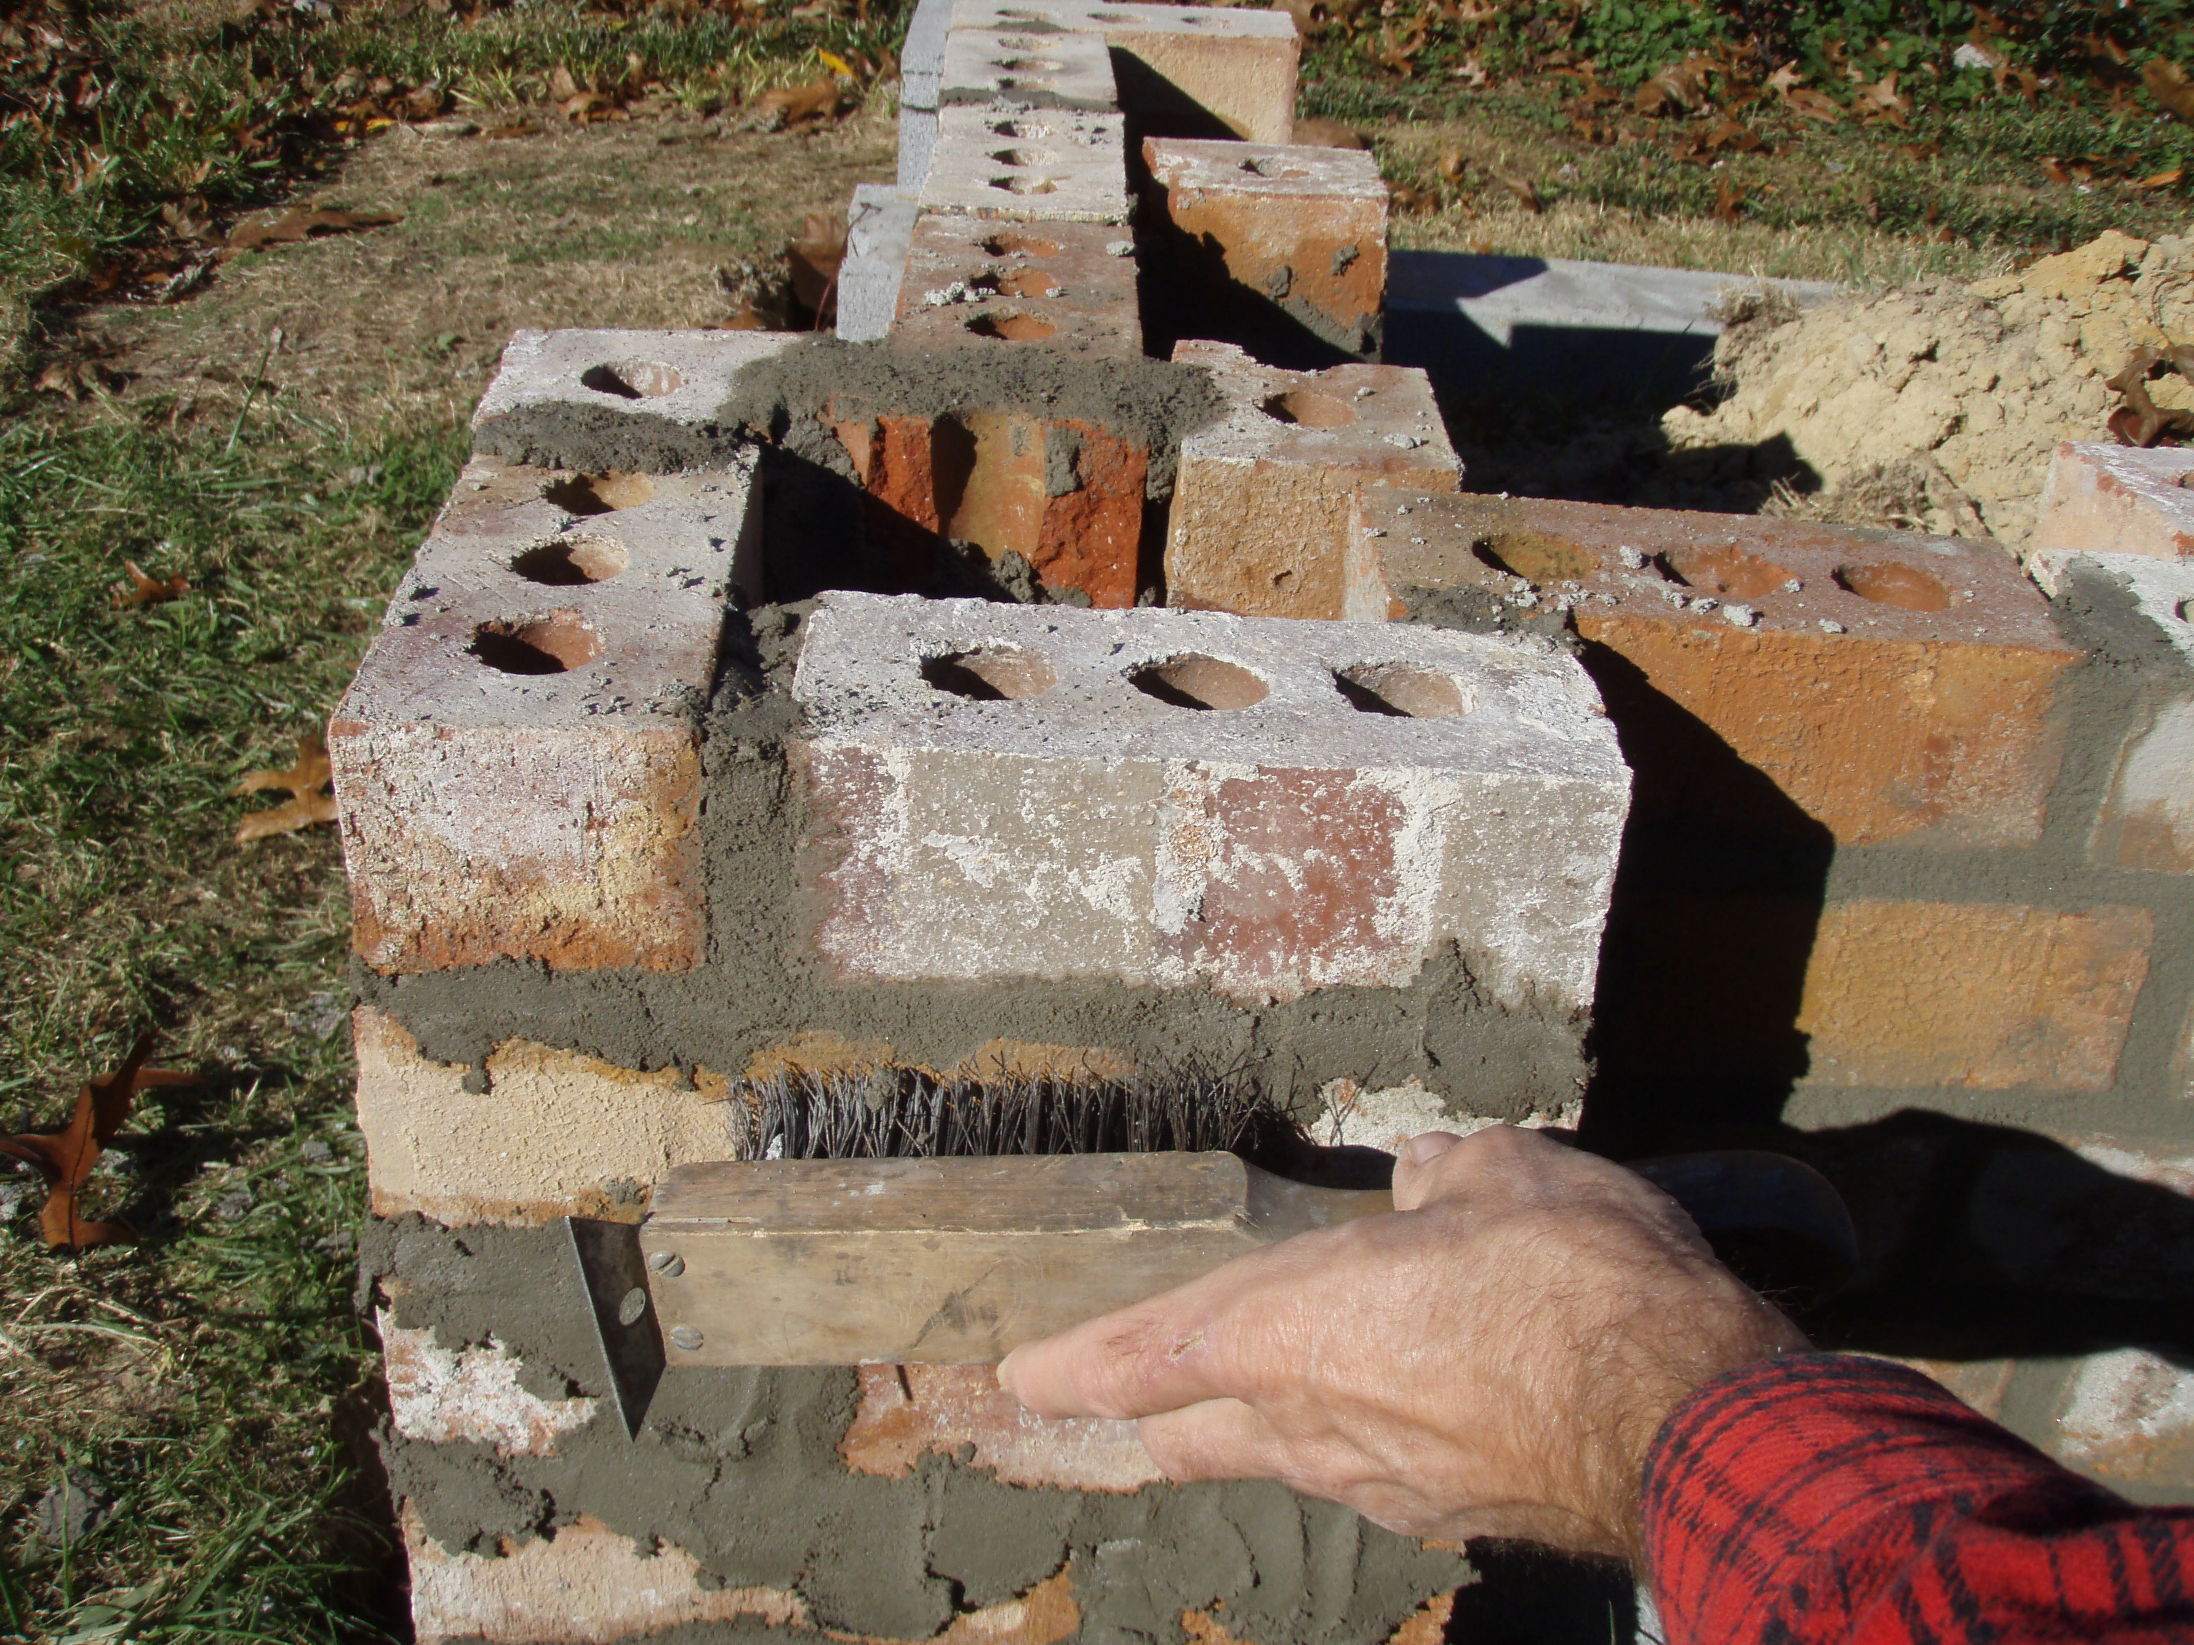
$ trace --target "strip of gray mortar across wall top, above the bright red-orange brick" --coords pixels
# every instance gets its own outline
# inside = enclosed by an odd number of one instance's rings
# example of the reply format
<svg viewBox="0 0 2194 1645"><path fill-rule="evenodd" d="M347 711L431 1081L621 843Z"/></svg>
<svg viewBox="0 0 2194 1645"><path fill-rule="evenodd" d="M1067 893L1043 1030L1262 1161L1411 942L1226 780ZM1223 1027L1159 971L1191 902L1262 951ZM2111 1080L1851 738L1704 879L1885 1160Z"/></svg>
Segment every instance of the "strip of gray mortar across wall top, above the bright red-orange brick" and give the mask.
<svg viewBox="0 0 2194 1645"><path fill-rule="evenodd" d="M1202 366L1044 349L915 353L807 338L742 366L731 397L704 423L621 406L544 404L494 419L476 432L474 450L540 467L667 474L720 467L726 452L764 436L853 478L821 417L825 406L832 421L1007 410L1108 428L1150 452L1143 496L1152 502L1174 494L1183 436L1226 415ZM1049 461L1047 478L1055 480Z"/></svg>

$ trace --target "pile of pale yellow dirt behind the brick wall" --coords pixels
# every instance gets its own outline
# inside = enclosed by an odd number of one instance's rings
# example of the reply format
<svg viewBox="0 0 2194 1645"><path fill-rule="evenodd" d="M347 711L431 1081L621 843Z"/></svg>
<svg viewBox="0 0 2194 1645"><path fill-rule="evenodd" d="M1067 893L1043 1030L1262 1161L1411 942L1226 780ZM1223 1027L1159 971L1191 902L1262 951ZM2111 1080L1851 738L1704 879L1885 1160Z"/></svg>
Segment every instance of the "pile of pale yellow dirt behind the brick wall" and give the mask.
<svg viewBox="0 0 2194 1645"><path fill-rule="evenodd" d="M1722 333L1735 393L1663 419L1676 452L1777 447L1819 478L1768 513L2023 544L2058 441L2108 439L2106 386L2139 347L2194 342L2194 239L2115 230L2023 274L1762 305ZM2194 406L2181 377L2161 408ZM1810 487L1810 489L1808 489Z"/></svg>

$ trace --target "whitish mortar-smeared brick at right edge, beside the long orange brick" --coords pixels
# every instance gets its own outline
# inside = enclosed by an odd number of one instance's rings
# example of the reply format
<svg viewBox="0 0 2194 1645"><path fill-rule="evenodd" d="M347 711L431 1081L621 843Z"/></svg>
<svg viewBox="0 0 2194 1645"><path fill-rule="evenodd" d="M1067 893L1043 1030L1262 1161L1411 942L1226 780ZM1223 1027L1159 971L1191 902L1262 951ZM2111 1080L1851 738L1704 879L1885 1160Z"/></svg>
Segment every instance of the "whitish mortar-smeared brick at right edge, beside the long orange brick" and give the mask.
<svg viewBox="0 0 2194 1645"><path fill-rule="evenodd" d="M2133 629L2124 649L2128 660L2150 665L2095 814L2089 860L2194 873L2194 559L2043 551L2029 570L2056 594L2130 603L2119 612Z"/></svg>

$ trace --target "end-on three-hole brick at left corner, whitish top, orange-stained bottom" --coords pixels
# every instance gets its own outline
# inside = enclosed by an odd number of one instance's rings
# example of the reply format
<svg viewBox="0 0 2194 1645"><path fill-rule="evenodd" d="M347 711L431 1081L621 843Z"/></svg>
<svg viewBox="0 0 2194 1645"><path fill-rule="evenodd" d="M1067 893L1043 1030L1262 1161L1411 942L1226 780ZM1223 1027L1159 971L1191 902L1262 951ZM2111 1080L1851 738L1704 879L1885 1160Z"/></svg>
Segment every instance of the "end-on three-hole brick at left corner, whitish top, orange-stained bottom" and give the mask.
<svg viewBox="0 0 2194 1645"><path fill-rule="evenodd" d="M759 588L753 474L465 467L327 728L366 965L698 963L698 719Z"/></svg>

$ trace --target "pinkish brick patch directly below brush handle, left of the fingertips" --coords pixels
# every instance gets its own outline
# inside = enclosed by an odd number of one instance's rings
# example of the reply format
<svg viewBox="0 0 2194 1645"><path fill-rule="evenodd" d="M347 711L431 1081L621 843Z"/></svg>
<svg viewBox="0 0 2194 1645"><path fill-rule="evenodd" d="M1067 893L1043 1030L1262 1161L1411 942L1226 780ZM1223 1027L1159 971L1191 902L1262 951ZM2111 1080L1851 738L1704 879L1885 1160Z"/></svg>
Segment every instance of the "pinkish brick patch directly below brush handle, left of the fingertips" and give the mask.
<svg viewBox="0 0 2194 1645"><path fill-rule="evenodd" d="M959 1456L1003 1485L1134 1491L1165 1474L1132 1421L1036 1417L987 1364L864 1364L860 1408L838 1454L856 1474L904 1478L924 1456Z"/></svg>

